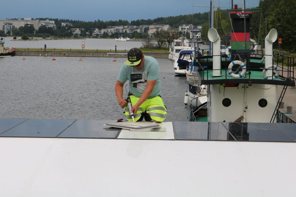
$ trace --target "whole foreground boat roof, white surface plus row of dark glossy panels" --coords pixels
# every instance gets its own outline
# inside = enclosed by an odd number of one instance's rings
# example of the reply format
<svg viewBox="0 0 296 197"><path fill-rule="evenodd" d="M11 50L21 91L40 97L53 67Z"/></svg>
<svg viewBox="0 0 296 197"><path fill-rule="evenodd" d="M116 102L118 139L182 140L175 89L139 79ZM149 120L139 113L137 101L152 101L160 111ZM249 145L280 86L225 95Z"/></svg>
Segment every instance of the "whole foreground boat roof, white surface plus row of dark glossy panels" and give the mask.
<svg viewBox="0 0 296 197"><path fill-rule="evenodd" d="M163 122L166 131L152 132L106 129L110 122L0 119L1 196L247 197L295 190L292 123Z"/></svg>

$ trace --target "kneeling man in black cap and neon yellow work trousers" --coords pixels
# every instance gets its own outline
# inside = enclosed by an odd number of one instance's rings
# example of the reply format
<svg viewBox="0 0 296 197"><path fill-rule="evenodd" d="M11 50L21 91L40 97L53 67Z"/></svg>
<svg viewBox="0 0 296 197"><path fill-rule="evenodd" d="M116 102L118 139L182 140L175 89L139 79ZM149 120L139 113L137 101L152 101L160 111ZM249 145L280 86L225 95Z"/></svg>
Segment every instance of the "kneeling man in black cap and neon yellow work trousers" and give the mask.
<svg viewBox="0 0 296 197"><path fill-rule="evenodd" d="M159 65L155 58L145 56L138 48L128 52L128 59L122 65L117 82L115 93L118 104L125 109L125 116L128 121L130 117L127 102L123 99L123 85L129 81L129 97L132 104L134 120L154 120L157 123L163 122L167 115L167 108L161 98L161 84Z"/></svg>

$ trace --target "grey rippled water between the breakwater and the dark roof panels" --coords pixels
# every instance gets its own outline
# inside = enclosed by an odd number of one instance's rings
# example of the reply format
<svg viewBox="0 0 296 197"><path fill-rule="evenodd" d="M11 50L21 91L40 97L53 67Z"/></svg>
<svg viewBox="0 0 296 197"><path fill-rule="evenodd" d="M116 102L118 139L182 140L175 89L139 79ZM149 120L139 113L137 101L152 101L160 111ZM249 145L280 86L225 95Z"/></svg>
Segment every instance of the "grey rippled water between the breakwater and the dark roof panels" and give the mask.
<svg viewBox="0 0 296 197"><path fill-rule="evenodd" d="M77 40L71 42L81 44ZM42 41L28 43L44 44ZM59 46L52 44L48 47L61 46L59 43ZM128 45L125 48L133 46ZM83 61L79 61L78 57L55 57L56 61L49 56L25 56L26 60L22 58L0 58L0 118L124 118L114 88L118 72L126 58L118 58L116 62L112 61L113 58L103 57L84 57ZM186 76L174 76L173 61L157 61L161 72L162 97L168 107L166 121L187 121L190 107L183 103L187 89Z"/></svg>

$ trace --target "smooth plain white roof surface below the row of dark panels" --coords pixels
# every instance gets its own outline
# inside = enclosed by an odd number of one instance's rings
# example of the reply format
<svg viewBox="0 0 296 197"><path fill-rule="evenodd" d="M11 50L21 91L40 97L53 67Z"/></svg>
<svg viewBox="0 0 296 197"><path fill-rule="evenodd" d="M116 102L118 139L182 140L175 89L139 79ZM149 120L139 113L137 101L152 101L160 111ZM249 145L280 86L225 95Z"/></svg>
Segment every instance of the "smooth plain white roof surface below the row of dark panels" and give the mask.
<svg viewBox="0 0 296 197"><path fill-rule="evenodd" d="M1 196L291 196L296 144L0 138Z"/></svg>

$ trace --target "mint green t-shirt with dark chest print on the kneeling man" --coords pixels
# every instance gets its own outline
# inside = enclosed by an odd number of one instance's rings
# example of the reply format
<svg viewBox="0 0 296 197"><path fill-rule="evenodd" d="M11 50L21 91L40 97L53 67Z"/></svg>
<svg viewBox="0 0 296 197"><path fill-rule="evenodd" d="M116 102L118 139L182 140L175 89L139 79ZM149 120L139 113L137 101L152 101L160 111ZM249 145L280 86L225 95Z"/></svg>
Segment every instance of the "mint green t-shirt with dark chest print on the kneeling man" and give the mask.
<svg viewBox="0 0 296 197"><path fill-rule="evenodd" d="M126 83L129 81L129 92L134 96L140 98L147 86L147 80L157 80L152 93L148 97L151 99L155 96L161 96L161 84L160 84L160 72L158 62L155 58L150 56L144 56L144 67L141 70L136 70L131 66L126 65L126 62L122 65L118 81Z"/></svg>

